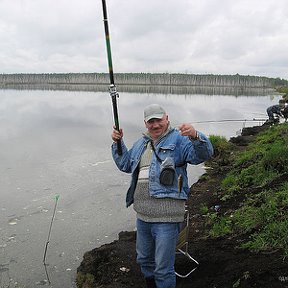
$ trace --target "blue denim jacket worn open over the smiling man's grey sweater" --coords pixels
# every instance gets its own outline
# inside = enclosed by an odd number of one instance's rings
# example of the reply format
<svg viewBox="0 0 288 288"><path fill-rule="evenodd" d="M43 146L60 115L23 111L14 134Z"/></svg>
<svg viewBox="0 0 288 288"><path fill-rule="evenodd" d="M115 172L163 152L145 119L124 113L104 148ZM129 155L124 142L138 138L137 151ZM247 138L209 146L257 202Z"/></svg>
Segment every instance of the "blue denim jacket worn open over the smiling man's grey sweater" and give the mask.
<svg viewBox="0 0 288 288"><path fill-rule="evenodd" d="M149 193L151 197L168 197L181 200L188 198L187 164L200 164L208 160L213 154L213 147L209 139L201 132L198 132L198 135L198 140L190 140L187 136L181 136L177 129L171 129L156 144L155 150L160 159L164 160L168 156L174 159L176 175L173 185L161 185L159 180L160 162L157 160L155 153L153 153L149 170ZM134 201L134 192L139 174L138 164L149 141L151 141L149 137L143 136L128 150L123 140L121 140L122 155L120 156L117 154L116 143L112 144L112 156L118 169L125 173L132 173L130 187L126 195L127 207ZM178 176L180 174L183 177L183 187L181 191L178 191Z"/></svg>

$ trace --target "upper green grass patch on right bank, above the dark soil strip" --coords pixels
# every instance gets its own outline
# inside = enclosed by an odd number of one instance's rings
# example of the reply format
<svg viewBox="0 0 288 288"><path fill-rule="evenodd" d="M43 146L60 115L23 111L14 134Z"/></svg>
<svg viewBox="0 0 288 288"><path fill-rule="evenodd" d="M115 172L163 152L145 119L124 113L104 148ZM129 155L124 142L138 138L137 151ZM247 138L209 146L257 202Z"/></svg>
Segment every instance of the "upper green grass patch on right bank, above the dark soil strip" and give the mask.
<svg viewBox="0 0 288 288"><path fill-rule="evenodd" d="M234 169L223 180L222 189L232 197L243 188L264 186L288 173L287 143L286 123L259 134L246 151L237 155Z"/></svg>

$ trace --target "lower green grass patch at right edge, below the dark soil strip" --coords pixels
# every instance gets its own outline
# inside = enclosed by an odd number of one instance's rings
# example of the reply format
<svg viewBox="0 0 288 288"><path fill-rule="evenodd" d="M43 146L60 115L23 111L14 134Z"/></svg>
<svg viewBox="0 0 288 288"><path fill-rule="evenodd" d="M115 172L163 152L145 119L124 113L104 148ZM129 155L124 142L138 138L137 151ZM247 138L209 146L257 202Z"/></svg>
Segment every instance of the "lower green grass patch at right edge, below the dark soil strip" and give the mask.
<svg viewBox="0 0 288 288"><path fill-rule="evenodd" d="M277 190L264 191L247 199L229 215L210 215L210 235L223 237L251 233L241 245L253 251L282 249L288 256L288 183Z"/></svg>

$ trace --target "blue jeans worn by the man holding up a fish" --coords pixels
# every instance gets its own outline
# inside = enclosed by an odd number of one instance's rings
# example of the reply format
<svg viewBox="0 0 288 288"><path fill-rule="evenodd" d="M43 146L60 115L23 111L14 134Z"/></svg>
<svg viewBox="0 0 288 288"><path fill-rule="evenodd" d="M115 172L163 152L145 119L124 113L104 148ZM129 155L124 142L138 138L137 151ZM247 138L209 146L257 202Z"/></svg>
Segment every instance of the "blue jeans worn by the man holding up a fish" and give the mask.
<svg viewBox="0 0 288 288"><path fill-rule="evenodd" d="M179 223L150 223L137 219L137 263L157 288L175 288L175 250Z"/></svg>

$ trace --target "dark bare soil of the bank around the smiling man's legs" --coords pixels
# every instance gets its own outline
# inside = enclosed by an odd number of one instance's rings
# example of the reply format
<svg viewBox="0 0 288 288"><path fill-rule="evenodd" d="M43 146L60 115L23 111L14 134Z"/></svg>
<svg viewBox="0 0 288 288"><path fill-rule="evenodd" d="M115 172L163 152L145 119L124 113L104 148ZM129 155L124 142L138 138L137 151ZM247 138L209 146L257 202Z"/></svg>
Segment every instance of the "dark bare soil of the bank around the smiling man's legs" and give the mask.
<svg viewBox="0 0 288 288"><path fill-rule="evenodd" d="M245 149L261 129L266 127L247 128L242 136L230 141ZM225 155L213 159L207 169L209 177L191 187L189 252L199 266L189 277L177 277L177 288L288 288L288 261L283 260L280 251L255 254L238 248L245 239L243 235L212 239L205 233L202 205L209 209L220 205L222 211L238 207L237 201L223 204L217 197L219 183L230 164ZM135 262L135 238L135 232L121 232L119 240L85 253L77 270L78 287L144 288L144 279ZM193 265L186 257L176 257L176 271L185 274Z"/></svg>

